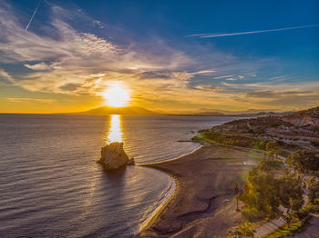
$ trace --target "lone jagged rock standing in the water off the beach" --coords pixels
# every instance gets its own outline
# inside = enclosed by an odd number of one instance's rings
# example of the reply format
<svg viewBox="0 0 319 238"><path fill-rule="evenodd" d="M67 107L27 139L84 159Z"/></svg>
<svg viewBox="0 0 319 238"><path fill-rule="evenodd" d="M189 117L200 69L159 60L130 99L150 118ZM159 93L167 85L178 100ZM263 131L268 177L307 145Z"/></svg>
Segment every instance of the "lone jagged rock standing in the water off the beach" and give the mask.
<svg viewBox="0 0 319 238"><path fill-rule="evenodd" d="M125 153L123 143L114 142L101 148L101 158L98 163L102 164L107 172L111 172L133 165L134 160L129 159Z"/></svg>

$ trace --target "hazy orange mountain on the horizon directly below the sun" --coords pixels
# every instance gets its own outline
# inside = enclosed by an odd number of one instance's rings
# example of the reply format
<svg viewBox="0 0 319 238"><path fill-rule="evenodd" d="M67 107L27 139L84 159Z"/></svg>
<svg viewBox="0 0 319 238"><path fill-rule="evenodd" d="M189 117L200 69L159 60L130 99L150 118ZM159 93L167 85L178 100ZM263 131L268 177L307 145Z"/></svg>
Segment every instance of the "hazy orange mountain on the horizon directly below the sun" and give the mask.
<svg viewBox="0 0 319 238"><path fill-rule="evenodd" d="M90 109L85 112L79 112L74 114L157 114L148 109L139 106L125 106L125 107L109 107L101 106L98 108Z"/></svg>

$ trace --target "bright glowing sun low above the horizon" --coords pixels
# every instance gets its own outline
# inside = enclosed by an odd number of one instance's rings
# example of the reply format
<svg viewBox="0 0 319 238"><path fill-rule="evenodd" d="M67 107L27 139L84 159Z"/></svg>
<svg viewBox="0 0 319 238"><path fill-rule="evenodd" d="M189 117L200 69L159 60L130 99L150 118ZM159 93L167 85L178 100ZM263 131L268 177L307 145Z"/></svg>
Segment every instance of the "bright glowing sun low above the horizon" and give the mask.
<svg viewBox="0 0 319 238"><path fill-rule="evenodd" d="M102 94L107 104L112 107L126 106L129 103L129 89L122 84L110 84Z"/></svg>

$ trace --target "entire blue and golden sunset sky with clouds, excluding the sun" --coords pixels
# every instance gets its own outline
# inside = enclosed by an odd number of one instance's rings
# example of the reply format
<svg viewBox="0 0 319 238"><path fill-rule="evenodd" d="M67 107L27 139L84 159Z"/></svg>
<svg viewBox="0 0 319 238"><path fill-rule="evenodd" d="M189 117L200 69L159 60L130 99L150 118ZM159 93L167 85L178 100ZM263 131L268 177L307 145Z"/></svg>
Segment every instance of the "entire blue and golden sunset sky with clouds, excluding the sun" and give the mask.
<svg viewBox="0 0 319 238"><path fill-rule="evenodd" d="M129 105L159 112L318 106L318 10L307 0L0 0L0 113L85 111L114 84Z"/></svg>

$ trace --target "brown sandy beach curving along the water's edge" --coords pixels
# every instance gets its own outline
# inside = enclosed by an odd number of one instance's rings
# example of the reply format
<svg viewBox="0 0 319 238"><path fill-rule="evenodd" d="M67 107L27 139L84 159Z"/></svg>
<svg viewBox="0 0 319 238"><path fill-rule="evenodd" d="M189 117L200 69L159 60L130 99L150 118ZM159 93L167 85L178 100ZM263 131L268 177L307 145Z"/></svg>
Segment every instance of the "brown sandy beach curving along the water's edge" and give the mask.
<svg viewBox="0 0 319 238"><path fill-rule="evenodd" d="M216 144L177 160L144 164L174 177L176 190L137 237L226 237L242 223L235 212L232 183L242 183L255 158L256 154Z"/></svg>

